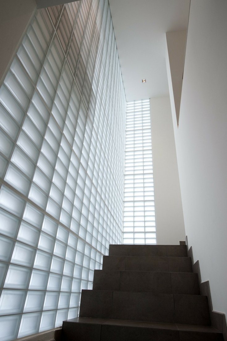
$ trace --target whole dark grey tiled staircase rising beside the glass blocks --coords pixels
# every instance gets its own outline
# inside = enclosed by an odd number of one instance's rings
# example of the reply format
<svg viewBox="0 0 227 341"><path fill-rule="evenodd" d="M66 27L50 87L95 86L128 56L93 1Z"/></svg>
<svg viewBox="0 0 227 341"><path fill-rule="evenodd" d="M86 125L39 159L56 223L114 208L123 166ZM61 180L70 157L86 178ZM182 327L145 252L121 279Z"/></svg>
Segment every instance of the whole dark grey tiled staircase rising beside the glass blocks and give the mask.
<svg viewBox="0 0 227 341"><path fill-rule="evenodd" d="M223 341L185 245L110 245L64 341Z"/></svg>

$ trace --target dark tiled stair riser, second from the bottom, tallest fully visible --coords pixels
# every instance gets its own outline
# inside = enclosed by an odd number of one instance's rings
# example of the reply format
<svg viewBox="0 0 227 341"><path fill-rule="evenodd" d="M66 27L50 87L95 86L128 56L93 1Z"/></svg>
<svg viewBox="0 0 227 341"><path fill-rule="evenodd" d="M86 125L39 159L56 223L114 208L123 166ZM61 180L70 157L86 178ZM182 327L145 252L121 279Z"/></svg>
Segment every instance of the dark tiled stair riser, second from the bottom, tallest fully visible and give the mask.
<svg viewBox="0 0 227 341"><path fill-rule="evenodd" d="M207 296L82 290L81 317L210 325Z"/></svg>

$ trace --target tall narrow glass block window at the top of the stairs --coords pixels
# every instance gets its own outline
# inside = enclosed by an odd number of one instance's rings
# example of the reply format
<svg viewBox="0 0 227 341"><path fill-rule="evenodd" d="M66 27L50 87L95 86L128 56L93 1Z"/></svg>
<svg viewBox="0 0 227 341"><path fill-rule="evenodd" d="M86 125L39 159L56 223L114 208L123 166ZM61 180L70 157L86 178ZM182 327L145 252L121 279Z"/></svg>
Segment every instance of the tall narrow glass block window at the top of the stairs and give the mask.
<svg viewBox="0 0 227 341"><path fill-rule="evenodd" d="M156 244L150 101L127 102L124 244Z"/></svg>

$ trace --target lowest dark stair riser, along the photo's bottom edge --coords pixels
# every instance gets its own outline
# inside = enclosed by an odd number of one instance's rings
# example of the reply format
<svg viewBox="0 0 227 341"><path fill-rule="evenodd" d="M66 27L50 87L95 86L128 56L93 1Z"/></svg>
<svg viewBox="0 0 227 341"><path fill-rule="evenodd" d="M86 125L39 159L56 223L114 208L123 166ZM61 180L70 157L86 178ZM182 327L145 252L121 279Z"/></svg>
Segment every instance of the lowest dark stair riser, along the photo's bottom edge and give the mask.
<svg viewBox="0 0 227 341"><path fill-rule="evenodd" d="M64 341L223 341L222 334L63 322Z"/></svg>

